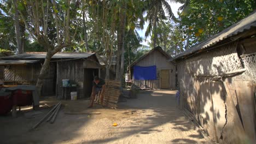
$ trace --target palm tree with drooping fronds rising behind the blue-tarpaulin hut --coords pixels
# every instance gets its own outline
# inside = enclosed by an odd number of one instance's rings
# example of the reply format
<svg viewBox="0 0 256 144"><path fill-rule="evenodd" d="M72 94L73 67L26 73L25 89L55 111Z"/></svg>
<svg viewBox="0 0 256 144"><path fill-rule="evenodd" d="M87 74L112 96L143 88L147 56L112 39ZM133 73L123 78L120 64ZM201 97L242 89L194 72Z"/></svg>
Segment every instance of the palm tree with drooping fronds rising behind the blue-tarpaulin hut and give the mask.
<svg viewBox="0 0 256 144"><path fill-rule="evenodd" d="M184 3L185 0L170 0L170 2ZM168 4L166 0L147 0L146 9L146 20L149 24L145 33L145 37L148 37L149 34L152 32L153 46L155 47L157 38L156 27L158 25L158 22L160 20L167 19L165 12L168 14L169 19L175 20L175 17L172 13L170 4Z"/></svg>

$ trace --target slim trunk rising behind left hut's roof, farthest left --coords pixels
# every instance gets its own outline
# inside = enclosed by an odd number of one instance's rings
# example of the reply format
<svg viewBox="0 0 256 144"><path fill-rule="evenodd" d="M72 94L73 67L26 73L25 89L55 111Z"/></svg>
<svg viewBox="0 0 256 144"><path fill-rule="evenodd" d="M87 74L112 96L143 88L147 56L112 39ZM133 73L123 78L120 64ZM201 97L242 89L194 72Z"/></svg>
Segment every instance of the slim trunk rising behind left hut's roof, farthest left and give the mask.
<svg viewBox="0 0 256 144"><path fill-rule="evenodd" d="M19 13L17 8L17 0L13 0L14 5L14 24L15 24L15 34L16 34L16 41L18 47L18 54L22 53L22 44L21 44L21 36L20 36L20 21L19 21Z"/></svg>

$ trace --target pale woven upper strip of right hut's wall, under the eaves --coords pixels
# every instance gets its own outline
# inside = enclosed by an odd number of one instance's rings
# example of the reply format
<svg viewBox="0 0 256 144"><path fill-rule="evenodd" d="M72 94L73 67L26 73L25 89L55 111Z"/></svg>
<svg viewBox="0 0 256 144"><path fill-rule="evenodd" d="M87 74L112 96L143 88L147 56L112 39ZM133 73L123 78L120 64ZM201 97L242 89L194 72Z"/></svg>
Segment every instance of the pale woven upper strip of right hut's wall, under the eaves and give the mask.
<svg viewBox="0 0 256 144"><path fill-rule="evenodd" d="M236 53L237 43L231 43L201 53L185 61L185 68L191 75L222 75L243 68Z"/></svg>

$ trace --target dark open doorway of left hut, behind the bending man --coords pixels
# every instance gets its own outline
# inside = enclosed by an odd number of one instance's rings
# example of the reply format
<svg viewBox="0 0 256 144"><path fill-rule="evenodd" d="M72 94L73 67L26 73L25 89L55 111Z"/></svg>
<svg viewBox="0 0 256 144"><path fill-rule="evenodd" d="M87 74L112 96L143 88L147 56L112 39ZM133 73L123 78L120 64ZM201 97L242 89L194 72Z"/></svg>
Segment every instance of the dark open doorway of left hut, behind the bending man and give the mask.
<svg viewBox="0 0 256 144"><path fill-rule="evenodd" d="M92 81L96 75L98 76L98 69L84 69L84 97L91 96Z"/></svg>

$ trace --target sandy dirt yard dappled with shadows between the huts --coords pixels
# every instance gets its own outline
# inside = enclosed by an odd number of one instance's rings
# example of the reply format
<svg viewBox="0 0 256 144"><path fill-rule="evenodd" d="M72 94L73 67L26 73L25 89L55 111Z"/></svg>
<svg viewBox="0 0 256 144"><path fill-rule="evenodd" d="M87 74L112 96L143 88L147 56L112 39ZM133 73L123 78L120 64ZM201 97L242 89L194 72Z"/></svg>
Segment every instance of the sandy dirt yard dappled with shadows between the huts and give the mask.
<svg viewBox="0 0 256 144"><path fill-rule="evenodd" d="M177 108L176 91L140 91L137 99L119 103L118 110L96 106L87 100L62 101L55 123L34 124L50 110L24 110L18 118L0 116L0 143L209 143ZM40 105L56 104L44 100ZM67 115L65 112L101 112L100 115ZM113 127L113 123L118 123Z"/></svg>

